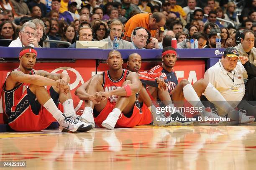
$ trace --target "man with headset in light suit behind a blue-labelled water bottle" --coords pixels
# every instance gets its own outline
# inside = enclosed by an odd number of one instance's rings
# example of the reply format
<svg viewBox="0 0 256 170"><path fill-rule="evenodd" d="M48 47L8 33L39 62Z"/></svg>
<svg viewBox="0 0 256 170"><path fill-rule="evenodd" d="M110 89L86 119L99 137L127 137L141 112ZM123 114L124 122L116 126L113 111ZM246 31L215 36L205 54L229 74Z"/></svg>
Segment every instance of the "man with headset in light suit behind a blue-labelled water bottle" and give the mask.
<svg viewBox="0 0 256 170"><path fill-rule="evenodd" d="M108 38L100 40L108 42L108 49L113 49L113 41L115 37L118 39L119 49L133 49L133 45L130 42L121 39L124 32L124 26L120 20L113 20L109 25L108 32Z"/></svg>

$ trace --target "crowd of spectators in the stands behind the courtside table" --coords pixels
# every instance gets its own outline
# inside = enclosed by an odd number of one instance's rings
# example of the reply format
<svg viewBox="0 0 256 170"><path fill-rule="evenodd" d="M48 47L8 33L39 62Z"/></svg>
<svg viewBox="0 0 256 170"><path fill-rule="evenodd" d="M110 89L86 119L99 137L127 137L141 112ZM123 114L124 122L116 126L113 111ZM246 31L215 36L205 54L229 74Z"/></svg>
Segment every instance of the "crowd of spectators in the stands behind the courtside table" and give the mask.
<svg viewBox="0 0 256 170"><path fill-rule="evenodd" d="M227 48L240 43L242 31L247 29L254 33L256 31L256 0L161 0L161 2L162 5L153 0L103 0L103 2L102 0L0 0L0 38L15 40L21 32L26 33L27 36L37 37L38 46L69 47L63 44L40 42L44 31L47 35L44 38L68 41L75 47L77 30L81 25L92 28L92 32L87 29L85 35L82 35L85 37L83 41L100 41L107 38L111 31L118 31L115 29L108 31L108 25L112 20L120 20L127 29L129 26L126 23L134 15L139 13L150 15L155 12L161 12L161 14L158 13L155 17L154 14L151 15L156 19L153 25L160 23L158 19L159 17L161 19L161 16L165 16L166 20L162 20L164 24L162 22L156 26L157 28L152 29L150 28L152 23L149 23L149 29L151 29L149 31L153 30L154 33L151 36L154 38L148 42L154 44L145 48L163 48L163 44L170 46L174 37L179 43L178 48L189 48L190 38L198 39L199 48L215 48L215 35L218 32L221 33L222 48ZM205 17L204 14L209 16ZM216 17L230 20L235 26L216 20ZM39 24L35 35L30 35L28 31L20 31L24 23L33 19L42 20L46 27ZM143 18L139 19L143 20ZM133 23L134 20L132 19L131 22ZM211 30L214 27L217 29ZM126 33L131 35L130 30L126 29ZM122 31L124 32L124 29ZM195 32L200 33L194 35ZM131 41L131 36L127 37L126 33L122 38ZM81 36L81 33L78 34ZM140 38L143 36L141 35ZM144 38L147 39L146 36ZM123 44L123 48L131 49L138 46Z"/></svg>

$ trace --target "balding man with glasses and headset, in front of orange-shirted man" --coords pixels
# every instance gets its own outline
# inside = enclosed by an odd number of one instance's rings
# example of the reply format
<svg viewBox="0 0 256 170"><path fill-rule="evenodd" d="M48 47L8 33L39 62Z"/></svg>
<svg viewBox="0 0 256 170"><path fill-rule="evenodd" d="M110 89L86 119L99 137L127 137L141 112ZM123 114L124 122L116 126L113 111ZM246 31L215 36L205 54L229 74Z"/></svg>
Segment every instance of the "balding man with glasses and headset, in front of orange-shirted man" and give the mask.
<svg viewBox="0 0 256 170"><path fill-rule="evenodd" d="M138 29L139 28L139 29ZM131 41L133 44L133 49L145 49L144 47L150 42L152 46L150 48L159 48L158 41L156 38L148 39L148 32L146 28L138 27L133 30L131 33Z"/></svg>

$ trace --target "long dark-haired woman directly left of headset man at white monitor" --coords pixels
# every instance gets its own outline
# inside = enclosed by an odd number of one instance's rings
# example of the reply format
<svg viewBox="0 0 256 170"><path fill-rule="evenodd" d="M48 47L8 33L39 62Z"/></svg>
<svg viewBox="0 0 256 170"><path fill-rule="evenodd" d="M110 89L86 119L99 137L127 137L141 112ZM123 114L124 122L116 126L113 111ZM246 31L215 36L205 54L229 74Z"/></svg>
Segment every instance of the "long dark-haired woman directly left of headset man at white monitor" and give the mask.
<svg viewBox="0 0 256 170"><path fill-rule="evenodd" d="M74 26L67 25L64 28L64 31L63 31L63 34L62 34L62 37L61 37L61 41L67 41L67 42L72 44L75 41L74 36L75 36L75 28L74 28ZM68 48L69 45L67 45L67 44L59 44L58 47L59 48Z"/></svg>

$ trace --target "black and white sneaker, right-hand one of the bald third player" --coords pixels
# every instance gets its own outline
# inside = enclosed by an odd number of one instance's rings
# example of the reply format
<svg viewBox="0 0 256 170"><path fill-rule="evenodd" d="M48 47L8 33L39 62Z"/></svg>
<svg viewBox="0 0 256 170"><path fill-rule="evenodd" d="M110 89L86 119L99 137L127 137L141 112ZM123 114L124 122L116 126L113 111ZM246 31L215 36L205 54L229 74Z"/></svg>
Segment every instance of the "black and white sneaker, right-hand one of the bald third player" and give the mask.
<svg viewBox="0 0 256 170"><path fill-rule="evenodd" d="M171 114L172 121L166 122L168 125L189 125L192 124L193 121L187 119L184 113L182 112L175 112Z"/></svg>

